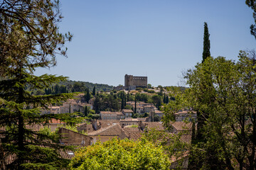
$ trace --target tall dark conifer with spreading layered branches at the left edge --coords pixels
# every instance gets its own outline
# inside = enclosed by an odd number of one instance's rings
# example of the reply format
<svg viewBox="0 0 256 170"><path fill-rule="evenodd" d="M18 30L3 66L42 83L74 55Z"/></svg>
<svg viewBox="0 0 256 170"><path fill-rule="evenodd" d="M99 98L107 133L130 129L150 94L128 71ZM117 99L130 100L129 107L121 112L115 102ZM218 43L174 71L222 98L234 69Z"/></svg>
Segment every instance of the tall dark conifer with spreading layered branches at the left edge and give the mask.
<svg viewBox="0 0 256 170"><path fill-rule="evenodd" d="M59 32L61 18L58 1L0 3L0 128L5 128L0 154L16 155L8 169L62 169L67 164L58 154L61 147L55 144L55 137L29 128L44 125L51 118L68 119L64 115L41 115L39 107L48 108L50 103L65 101L73 94L36 96L29 91L47 89L66 79L33 74L38 67L53 67L55 55L66 56L63 47L72 35Z"/></svg>

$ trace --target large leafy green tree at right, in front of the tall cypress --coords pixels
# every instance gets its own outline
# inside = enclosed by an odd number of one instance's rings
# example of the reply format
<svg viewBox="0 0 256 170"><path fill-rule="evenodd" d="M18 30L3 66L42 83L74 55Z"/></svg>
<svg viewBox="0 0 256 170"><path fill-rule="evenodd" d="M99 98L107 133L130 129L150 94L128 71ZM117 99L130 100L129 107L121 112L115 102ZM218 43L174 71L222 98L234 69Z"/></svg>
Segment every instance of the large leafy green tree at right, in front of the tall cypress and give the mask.
<svg viewBox="0 0 256 170"><path fill-rule="evenodd" d="M191 148L197 167L255 169L255 66L254 57L240 52L238 62L208 57L196 69L188 70L186 98L207 117L202 131L206 140Z"/></svg>

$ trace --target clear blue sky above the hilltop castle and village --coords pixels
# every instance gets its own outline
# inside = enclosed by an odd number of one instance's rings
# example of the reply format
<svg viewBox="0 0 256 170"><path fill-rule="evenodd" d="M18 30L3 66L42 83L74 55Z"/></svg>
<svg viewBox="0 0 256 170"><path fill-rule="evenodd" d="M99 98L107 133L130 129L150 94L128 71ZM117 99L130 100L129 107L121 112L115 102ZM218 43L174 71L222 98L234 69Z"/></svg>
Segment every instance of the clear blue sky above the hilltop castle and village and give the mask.
<svg viewBox="0 0 256 170"><path fill-rule="evenodd" d="M202 60L203 23L210 53L237 60L252 50L252 10L241 0L63 0L61 32L70 31L68 58L36 74L124 85L124 75L147 76L153 86L177 86L181 72Z"/></svg>

